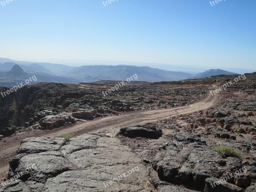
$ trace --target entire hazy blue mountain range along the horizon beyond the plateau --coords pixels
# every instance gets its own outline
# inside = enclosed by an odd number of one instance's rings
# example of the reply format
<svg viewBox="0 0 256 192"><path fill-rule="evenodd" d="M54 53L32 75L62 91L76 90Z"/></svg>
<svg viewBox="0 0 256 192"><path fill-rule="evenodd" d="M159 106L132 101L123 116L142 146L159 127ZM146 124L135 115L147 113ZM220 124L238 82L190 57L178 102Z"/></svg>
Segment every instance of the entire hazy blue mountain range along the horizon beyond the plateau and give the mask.
<svg viewBox="0 0 256 192"><path fill-rule="evenodd" d="M101 80L122 81L134 74L138 76L137 81L159 82L216 75L234 75L236 73L221 69L210 69L195 76L185 72L131 65L87 65L71 67L61 64L33 63L0 58L0 86L14 86L34 75L37 78L35 83L90 83ZM31 84L33 83L31 82Z"/></svg>

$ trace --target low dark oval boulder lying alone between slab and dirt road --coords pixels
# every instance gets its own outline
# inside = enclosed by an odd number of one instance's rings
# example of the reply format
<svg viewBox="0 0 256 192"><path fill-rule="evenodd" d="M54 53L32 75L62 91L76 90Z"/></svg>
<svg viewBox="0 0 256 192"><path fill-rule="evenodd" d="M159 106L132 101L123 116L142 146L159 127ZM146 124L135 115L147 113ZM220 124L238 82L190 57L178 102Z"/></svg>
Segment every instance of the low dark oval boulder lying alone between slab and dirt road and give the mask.
<svg viewBox="0 0 256 192"><path fill-rule="evenodd" d="M162 130L154 125L130 125L121 128L119 134L126 137L157 138L162 135Z"/></svg>

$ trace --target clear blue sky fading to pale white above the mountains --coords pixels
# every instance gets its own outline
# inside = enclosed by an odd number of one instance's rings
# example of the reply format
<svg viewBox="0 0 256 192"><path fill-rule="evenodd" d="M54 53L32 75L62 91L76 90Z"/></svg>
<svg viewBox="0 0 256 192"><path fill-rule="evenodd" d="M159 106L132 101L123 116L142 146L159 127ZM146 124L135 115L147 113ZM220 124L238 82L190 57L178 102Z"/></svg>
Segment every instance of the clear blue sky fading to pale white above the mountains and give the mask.
<svg viewBox="0 0 256 192"><path fill-rule="evenodd" d="M102 0L5 4L0 4L0 57L256 68L256 0L214 6L209 0L116 0L106 7Z"/></svg>

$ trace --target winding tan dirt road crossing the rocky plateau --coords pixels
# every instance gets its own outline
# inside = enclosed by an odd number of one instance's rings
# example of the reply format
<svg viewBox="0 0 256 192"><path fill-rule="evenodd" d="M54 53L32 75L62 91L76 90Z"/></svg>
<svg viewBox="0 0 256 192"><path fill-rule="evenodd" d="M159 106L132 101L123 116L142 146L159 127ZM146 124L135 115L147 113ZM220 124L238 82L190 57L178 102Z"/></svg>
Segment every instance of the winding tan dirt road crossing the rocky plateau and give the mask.
<svg viewBox="0 0 256 192"><path fill-rule="evenodd" d="M212 96L210 93L208 93L204 100L184 107L123 113L119 116L97 118L92 121L80 122L52 130L34 130L30 132L23 132L18 135L5 138L0 141L0 179L7 176L9 168L8 159L16 155L16 150L19 148L20 142L24 139L30 137L60 137L63 133L75 133L75 136L78 136L87 132L128 126L130 124L157 123L164 118L179 114L192 113L209 108L214 105L217 99L217 94Z"/></svg>

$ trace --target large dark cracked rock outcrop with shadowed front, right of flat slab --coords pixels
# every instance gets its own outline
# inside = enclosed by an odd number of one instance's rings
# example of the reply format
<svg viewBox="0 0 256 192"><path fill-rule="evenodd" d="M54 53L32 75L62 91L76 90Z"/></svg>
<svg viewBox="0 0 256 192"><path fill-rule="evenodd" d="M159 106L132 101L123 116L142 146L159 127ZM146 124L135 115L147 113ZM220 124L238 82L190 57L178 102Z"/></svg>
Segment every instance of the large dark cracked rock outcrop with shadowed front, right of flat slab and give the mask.
<svg viewBox="0 0 256 192"><path fill-rule="evenodd" d="M221 156L212 148L196 142L183 146L182 149L167 147L164 152L156 155L152 167L160 179L204 188L206 178L222 174L214 161L221 159Z"/></svg>

